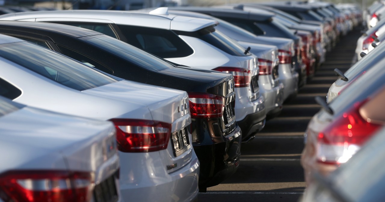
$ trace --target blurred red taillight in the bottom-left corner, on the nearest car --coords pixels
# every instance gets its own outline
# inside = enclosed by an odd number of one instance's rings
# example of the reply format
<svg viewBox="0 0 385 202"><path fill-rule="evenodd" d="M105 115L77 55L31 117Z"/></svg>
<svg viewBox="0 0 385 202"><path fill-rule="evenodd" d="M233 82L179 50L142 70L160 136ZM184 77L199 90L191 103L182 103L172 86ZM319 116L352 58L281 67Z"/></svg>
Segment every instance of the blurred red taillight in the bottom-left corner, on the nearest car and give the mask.
<svg viewBox="0 0 385 202"><path fill-rule="evenodd" d="M5 202L88 202L93 174L68 171L7 171L0 175L0 198Z"/></svg>

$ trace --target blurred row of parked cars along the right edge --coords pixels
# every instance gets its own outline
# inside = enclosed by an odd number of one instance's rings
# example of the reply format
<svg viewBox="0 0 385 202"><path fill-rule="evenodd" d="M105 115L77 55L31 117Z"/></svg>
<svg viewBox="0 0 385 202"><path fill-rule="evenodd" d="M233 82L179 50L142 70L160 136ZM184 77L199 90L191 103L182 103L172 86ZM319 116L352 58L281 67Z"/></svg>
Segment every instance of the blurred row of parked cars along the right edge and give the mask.
<svg viewBox="0 0 385 202"><path fill-rule="evenodd" d="M382 201L385 196L379 189L385 184L385 44L379 40L383 23L378 20L383 6L375 2L365 10L366 31L357 41L355 63L346 72L334 70L338 79L326 101L316 98L323 108L305 133L303 202Z"/></svg>

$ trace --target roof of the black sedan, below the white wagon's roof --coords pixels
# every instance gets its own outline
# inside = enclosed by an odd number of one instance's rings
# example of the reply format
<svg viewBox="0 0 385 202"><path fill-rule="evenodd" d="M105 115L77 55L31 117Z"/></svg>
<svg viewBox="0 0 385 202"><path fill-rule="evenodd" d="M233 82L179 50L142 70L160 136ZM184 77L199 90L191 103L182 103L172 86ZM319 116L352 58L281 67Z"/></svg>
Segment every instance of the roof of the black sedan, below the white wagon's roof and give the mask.
<svg viewBox="0 0 385 202"><path fill-rule="evenodd" d="M84 37L84 36L94 36L100 35L101 33L70 26L70 25L59 25L55 23L42 23L42 22L30 22L30 21L13 21L13 20L0 20L0 25L10 25L15 27L28 27L28 28L37 28L43 29L47 31L57 32L67 34L76 38Z"/></svg>

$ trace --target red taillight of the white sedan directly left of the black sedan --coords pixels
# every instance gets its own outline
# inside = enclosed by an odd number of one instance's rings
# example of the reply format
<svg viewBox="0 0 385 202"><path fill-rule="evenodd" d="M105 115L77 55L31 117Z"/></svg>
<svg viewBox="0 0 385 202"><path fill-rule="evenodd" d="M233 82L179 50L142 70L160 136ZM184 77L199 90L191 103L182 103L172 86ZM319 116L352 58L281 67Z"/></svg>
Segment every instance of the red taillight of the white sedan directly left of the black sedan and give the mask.
<svg viewBox="0 0 385 202"><path fill-rule="evenodd" d="M150 152L166 149L171 124L152 120L113 118L118 149L122 152Z"/></svg>

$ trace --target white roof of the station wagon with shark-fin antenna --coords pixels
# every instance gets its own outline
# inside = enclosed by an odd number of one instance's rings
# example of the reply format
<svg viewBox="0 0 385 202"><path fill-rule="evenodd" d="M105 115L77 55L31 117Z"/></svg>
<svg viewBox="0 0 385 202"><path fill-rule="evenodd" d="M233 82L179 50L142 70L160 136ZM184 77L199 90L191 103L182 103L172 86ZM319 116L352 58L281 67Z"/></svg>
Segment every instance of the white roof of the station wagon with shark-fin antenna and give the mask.
<svg viewBox="0 0 385 202"><path fill-rule="evenodd" d="M113 10L59 10L30 11L1 15L5 20L23 20L33 18L83 18L104 20L122 25L147 26L152 28L179 31L197 31L207 26L216 25L213 20L191 18L168 14L167 11L113 11ZM127 20L129 18L129 20ZM74 20L79 21L79 20ZM188 25L188 26L186 26Z"/></svg>

